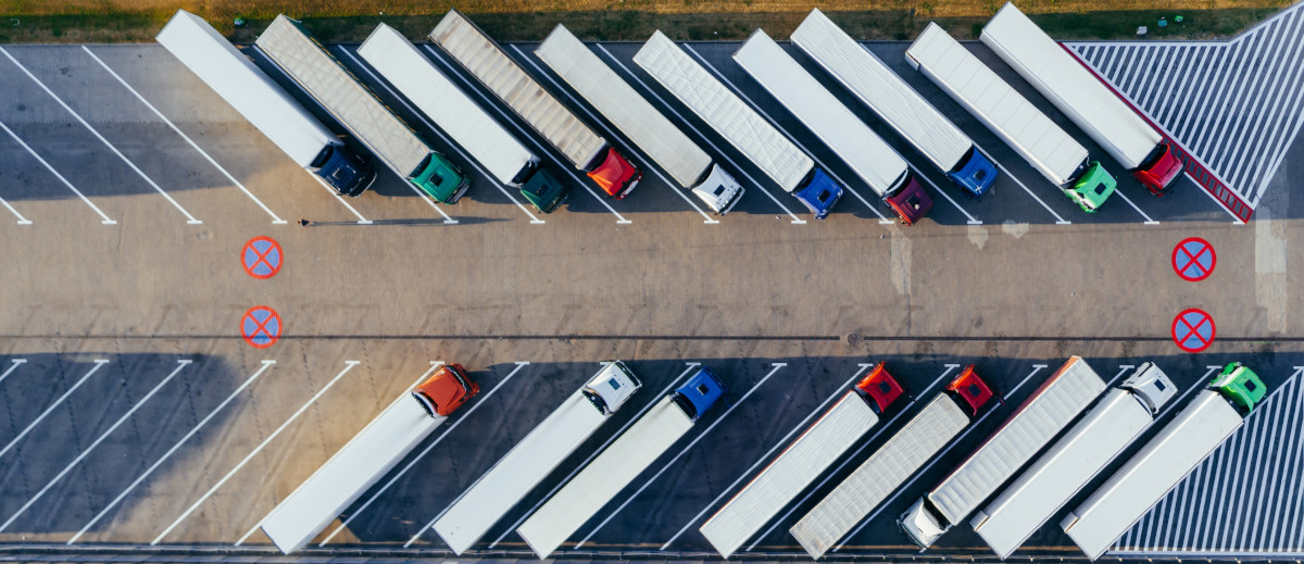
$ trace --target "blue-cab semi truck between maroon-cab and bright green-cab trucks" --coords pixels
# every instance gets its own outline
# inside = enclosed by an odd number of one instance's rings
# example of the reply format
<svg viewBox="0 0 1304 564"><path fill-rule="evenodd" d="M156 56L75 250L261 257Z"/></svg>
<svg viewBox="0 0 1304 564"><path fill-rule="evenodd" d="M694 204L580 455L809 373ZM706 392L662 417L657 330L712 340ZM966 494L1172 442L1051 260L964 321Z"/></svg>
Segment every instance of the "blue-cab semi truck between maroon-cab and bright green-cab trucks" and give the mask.
<svg viewBox="0 0 1304 564"><path fill-rule="evenodd" d="M948 180L973 196L982 196L996 181L996 167L969 136L818 8L797 26L792 40Z"/></svg>

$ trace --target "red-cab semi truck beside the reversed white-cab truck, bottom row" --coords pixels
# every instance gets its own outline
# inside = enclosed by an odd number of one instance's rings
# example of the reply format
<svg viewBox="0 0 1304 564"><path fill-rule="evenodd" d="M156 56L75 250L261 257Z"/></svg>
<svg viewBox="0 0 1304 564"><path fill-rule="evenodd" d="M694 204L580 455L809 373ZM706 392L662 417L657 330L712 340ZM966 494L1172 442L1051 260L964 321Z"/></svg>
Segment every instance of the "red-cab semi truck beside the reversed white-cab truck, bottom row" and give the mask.
<svg viewBox="0 0 1304 564"><path fill-rule="evenodd" d="M833 488L790 533L819 559L992 403L973 366L947 385L874 454Z"/></svg>

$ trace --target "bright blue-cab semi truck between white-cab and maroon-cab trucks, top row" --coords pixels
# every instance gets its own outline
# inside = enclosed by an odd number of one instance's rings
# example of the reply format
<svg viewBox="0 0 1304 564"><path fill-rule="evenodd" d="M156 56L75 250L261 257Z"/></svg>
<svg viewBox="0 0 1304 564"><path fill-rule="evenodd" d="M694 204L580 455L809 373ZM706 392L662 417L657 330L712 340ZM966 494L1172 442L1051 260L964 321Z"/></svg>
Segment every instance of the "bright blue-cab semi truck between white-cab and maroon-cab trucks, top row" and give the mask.
<svg viewBox="0 0 1304 564"><path fill-rule="evenodd" d="M842 187L816 167L810 157L661 31L652 34L634 55L634 63L775 180L784 192L801 201L816 219L828 217L842 197Z"/></svg>

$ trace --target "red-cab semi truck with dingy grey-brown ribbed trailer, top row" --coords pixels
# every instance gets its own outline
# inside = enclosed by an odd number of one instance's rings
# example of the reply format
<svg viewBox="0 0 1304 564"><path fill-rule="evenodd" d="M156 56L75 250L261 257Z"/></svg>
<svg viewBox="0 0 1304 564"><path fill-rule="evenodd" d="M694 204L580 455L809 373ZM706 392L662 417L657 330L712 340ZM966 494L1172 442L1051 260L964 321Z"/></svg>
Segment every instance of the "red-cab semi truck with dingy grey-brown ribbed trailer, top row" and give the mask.
<svg viewBox="0 0 1304 564"><path fill-rule="evenodd" d="M430 31L430 40L535 128L571 164L584 171L608 196L622 200L639 184L643 171L544 90L466 16L449 10Z"/></svg>

